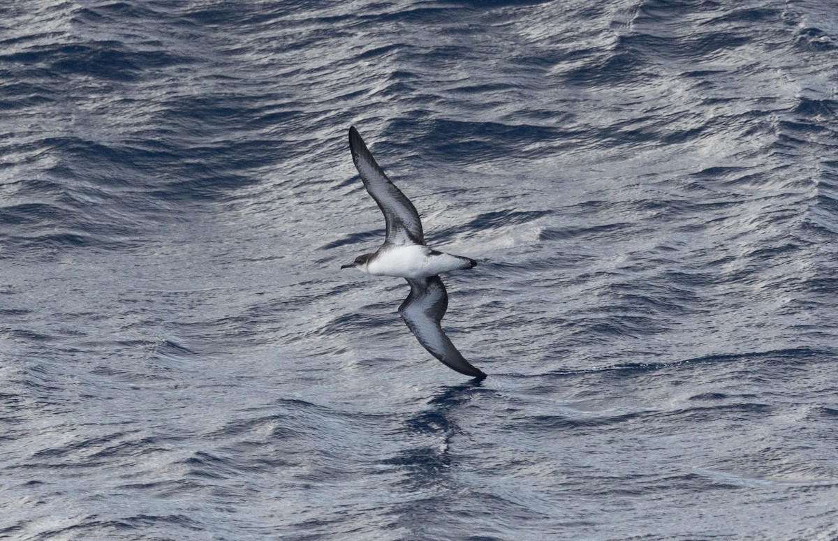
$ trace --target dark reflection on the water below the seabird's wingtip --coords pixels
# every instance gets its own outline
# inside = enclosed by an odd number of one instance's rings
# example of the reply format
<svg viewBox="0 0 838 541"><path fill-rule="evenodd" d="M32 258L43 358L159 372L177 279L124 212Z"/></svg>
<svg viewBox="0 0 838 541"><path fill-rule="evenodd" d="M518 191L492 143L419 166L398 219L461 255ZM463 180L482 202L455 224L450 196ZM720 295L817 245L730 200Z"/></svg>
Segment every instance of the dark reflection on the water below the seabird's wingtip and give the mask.
<svg viewBox="0 0 838 541"><path fill-rule="evenodd" d="M400 451L384 464L405 470L403 484L411 490L449 484L447 469L456 461L452 440L463 434L457 412L472 399L483 378L447 387L427 402L427 408L408 418L400 429L416 445Z"/></svg>

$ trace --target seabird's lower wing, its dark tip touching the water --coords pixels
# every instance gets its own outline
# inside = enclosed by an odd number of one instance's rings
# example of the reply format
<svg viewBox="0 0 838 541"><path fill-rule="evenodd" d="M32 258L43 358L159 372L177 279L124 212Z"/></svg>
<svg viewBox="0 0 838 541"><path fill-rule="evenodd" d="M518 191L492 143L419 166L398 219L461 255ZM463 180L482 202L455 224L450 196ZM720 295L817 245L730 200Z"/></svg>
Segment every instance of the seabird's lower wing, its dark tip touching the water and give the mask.
<svg viewBox="0 0 838 541"><path fill-rule="evenodd" d="M451 339L442 332L439 322L442 321L448 307L448 294L439 276L405 280L411 286L411 294L401 303L399 314L419 339L422 347L448 368L453 368L460 374L485 377L486 374L468 363L457 348L454 348Z"/></svg>

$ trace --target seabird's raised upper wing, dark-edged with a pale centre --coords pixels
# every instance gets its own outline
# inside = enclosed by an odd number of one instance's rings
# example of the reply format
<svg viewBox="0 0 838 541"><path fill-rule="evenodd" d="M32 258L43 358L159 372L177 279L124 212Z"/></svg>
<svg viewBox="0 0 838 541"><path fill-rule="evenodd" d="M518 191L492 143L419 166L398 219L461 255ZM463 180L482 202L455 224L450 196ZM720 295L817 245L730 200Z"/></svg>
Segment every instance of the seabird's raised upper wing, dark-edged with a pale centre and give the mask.
<svg viewBox="0 0 838 541"><path fill-rule="evenodd" d="M355 126L349 128L349 149L367 192L378 204L387 223L385 242L394 245L423 245L422 221L411 200L387 178Z"/></svg>

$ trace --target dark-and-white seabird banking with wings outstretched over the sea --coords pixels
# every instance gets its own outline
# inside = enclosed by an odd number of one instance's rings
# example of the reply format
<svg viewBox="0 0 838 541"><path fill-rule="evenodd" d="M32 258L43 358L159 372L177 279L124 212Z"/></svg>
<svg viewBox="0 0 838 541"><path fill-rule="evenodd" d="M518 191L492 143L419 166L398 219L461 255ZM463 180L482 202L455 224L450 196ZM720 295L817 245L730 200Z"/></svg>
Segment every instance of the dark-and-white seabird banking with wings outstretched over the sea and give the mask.
<svg viewBox="0 0 838 541"><path fill-rule="evenodd" d="M448 307L448 294L439 273L471 269L477 261L427 247L416 207L387 178L354 126L349 128L349 149L367 192L384 213L387 229L384 244L378 250L359 255L340 268L354 267L375 276L404 278L411 286L411 294L401 303L399 314L422 347L448 368L484 378L486 374L463 358L440 326Z"/></svg>

